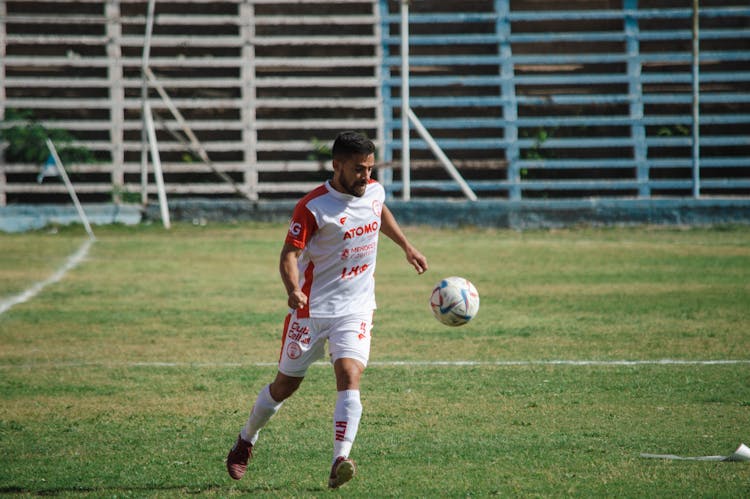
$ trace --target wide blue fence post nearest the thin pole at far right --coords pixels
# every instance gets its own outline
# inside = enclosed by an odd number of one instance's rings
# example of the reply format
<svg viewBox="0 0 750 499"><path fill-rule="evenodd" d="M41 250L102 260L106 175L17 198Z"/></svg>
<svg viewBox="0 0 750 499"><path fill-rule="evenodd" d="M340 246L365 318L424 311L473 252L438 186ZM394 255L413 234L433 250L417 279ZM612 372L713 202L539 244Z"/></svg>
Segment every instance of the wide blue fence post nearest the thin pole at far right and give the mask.
<svg viewBox="0 0 750 499"><path fill-rule="evenodd" d="M641 80L640 41L638 40L638 18L633 12L638 10L638 0L624 0L625 10L625 50L627 52L628 100L630 101L630 135L633 139L638 196L651 197L649 184L648 148L646 128L643 126L643 82Z"/></svg>

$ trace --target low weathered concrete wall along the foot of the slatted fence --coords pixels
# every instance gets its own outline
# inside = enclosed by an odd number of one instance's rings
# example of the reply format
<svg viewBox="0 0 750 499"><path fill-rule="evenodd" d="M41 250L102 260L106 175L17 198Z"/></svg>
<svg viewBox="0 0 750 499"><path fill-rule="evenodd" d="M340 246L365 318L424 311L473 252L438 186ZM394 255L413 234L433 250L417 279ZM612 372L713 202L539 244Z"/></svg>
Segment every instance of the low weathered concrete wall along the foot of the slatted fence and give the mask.
<svg viewBox="0 0 750 499"><path fill-rule="evenodd" d="M180 199L169 203L173 221L286 223L294 201ZM570 201L389 201L402 225L499 227L515 230L617 225L750 225L746 199L589 199ZM86 204L93 225L159 222L159 206ZM0 207L0 231L22 232L47 225L80 223L72 205Z"/></svg>

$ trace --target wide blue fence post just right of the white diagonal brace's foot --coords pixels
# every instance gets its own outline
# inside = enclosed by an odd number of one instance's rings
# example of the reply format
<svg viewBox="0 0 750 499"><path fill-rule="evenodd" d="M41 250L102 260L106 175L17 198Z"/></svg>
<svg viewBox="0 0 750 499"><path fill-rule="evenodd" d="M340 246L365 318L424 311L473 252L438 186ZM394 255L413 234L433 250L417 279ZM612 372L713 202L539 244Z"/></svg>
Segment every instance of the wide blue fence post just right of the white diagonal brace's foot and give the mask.
<svg viewBox="0 0 750 499"><path fill-rule="evenodd" d="M503 98L503 119L505 120L505 158L508 161L508 198L521 199L521 170L518 165L518 108L513 70L513 53L510 46L510 0L495 0L497 21L495 29L499 38L500 90Z"/></svg>

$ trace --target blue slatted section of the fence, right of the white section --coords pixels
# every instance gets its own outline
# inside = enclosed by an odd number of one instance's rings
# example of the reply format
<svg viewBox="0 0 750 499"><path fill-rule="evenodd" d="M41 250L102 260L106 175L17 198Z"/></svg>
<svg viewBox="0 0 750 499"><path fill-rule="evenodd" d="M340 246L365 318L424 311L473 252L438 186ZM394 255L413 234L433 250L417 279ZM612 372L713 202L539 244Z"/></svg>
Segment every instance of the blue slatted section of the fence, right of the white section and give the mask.
<svg viewBox="0 0 750 499"><path fill-rule="evenodd" d="M409 39L410 107L457 164L486 164L492 175L473 180L467 172L467 182L487 196L695 195L691 150L699 144L698 194L750 197L750 6L737 3L700 9L707 26L699 40L711 45L696 61L693 32L685 29L690 8L623 0L622 9L578 10L571 2L568 10L513 11L509 0L495 0L492 11L445 13L415 12L413 3L409 23L421 29ZM398 165L394 6L380 0L384 160ZM645 22L653 20L658 28ZM607 22L586 29L586 21ZM726 21L736 22L725 28ZM690 133L694 62L699 142ZM430 157L416 137L410 149L412 158ZM542 174L550 170L577 170L582 178ZM623 172L630 176L616 177ZM411 187L458 191L455 182L434 178L412 178ZM402 185L396 179L387 188L395 193Z"/></svg>

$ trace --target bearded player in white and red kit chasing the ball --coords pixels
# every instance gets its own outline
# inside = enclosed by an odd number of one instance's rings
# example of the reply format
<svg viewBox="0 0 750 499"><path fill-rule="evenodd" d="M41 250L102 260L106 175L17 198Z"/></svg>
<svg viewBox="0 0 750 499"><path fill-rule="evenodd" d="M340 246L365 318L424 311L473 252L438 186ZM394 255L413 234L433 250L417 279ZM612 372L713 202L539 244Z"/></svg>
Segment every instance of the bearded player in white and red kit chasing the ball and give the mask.
<svg viewBox="0 0 750 499"><path fill-rule="evenodd" d="M426 258L383 204L383 187L371 178L374 144L361 134L342 132L332 152L333 178L297 203L281 250L279 271L290 312L276 378L261 389L227 456L235 480L247 471L261 428L323 357L326 341L338 391L328 486L352 479L356 466L349 453L362 415L359 382L370 354L379 232L404 250L417 273L427 270Z"/></svg>

